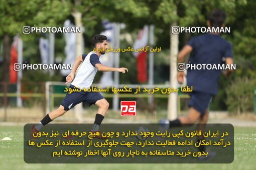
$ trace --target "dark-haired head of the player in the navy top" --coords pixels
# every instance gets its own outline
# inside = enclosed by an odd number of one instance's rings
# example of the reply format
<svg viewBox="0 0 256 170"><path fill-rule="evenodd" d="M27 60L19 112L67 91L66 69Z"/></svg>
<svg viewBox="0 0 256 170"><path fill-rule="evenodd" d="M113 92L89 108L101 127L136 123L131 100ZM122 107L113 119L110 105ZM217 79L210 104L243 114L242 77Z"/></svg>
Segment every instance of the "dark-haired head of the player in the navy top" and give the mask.
<svg viewBox="0 0 256 170"><path fill-rule="evenodd" d="M224 22L225 22L225 18L226 18L226 14L223 10L213 10L211 12L211 14L208 17L208 26L210 27L222 27L224 26Z"/></svg>

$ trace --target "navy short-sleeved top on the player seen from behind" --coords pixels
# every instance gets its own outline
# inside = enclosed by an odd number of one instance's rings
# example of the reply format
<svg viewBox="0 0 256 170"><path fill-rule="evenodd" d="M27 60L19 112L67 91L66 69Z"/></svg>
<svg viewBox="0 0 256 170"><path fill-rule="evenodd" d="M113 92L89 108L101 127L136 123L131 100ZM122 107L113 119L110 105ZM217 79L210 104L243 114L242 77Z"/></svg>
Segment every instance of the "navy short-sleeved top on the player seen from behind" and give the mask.
<svg viewBox="0 0 256 170"><path fill-rule="evenodd" d="M233 57L231 43L218 34L202 34L192 37L188 45L192 46L190 64L223 64L223 57ZM191 69L187 70L187 85L193 85L193 91L216 94L221 70Z"/></svg>

